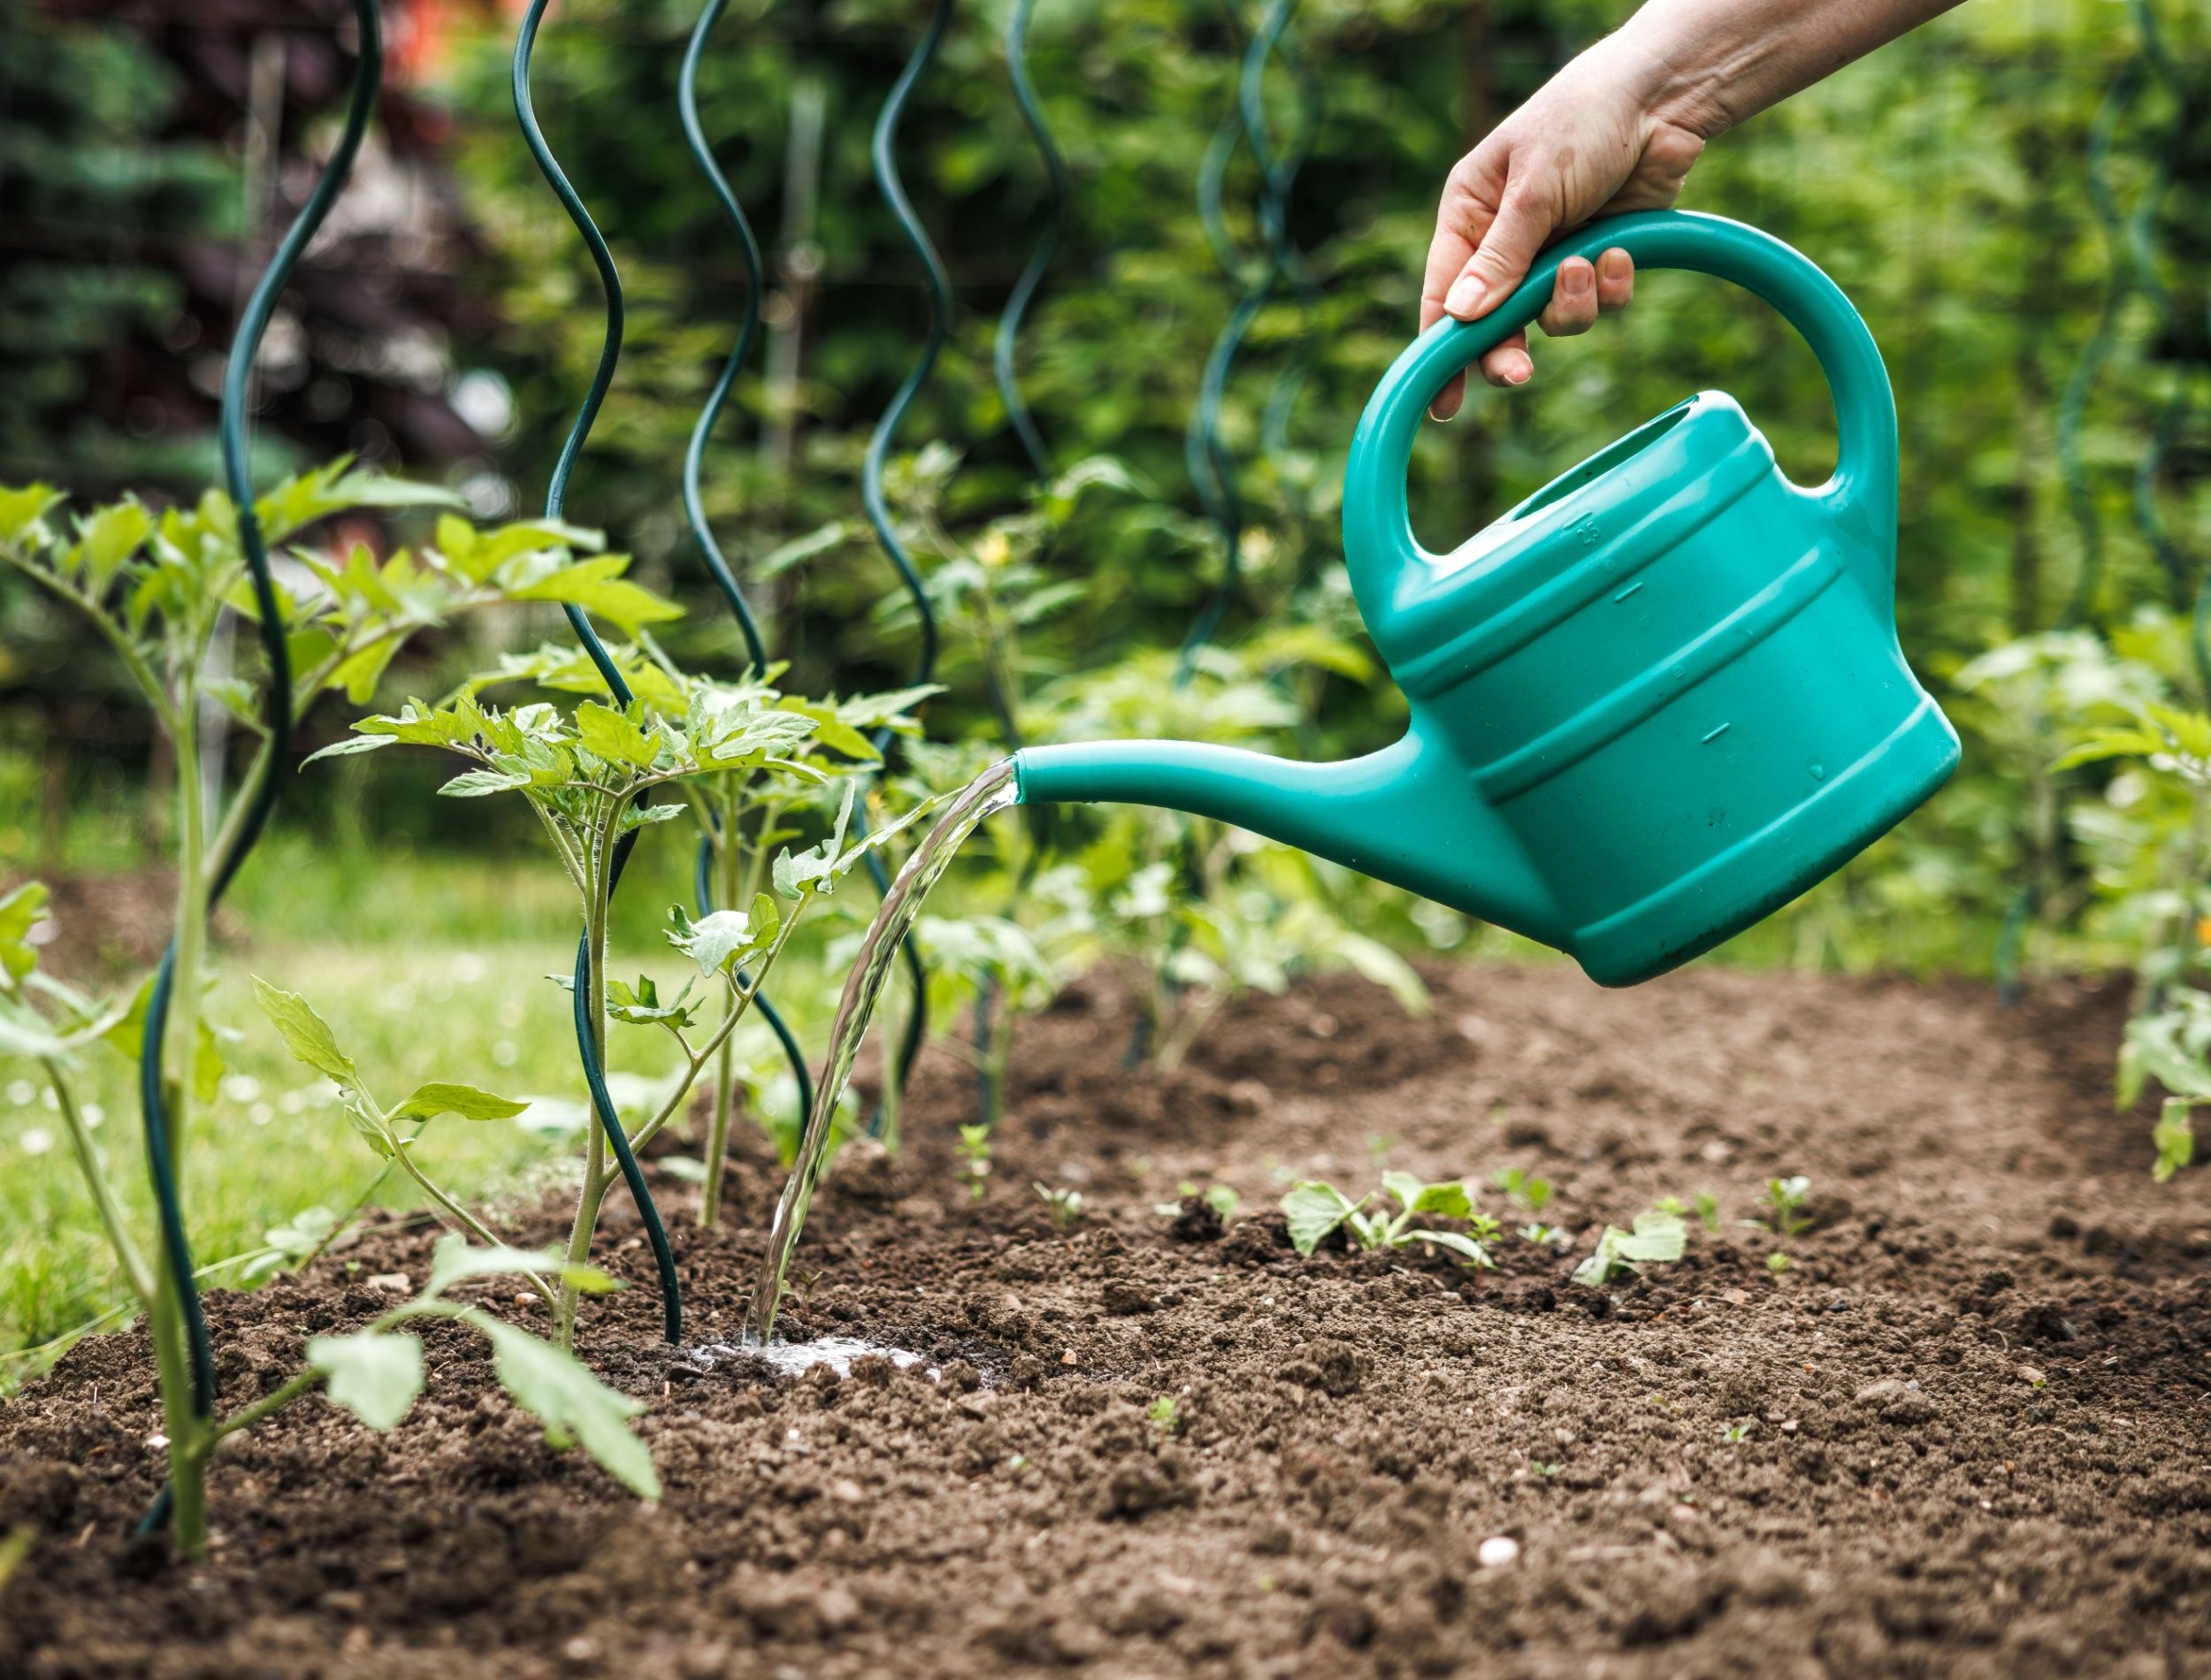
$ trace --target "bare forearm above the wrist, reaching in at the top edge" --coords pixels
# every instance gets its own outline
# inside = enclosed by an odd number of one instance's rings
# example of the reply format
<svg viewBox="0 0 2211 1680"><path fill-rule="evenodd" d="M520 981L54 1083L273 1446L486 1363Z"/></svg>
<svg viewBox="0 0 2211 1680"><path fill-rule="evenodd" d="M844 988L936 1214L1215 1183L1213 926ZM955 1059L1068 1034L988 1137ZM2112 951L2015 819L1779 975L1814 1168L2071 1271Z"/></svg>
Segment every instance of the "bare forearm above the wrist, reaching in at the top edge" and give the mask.
<svg viewBox="0 0 2211 1680"><path fill-rule="evenodd" d="M1711 139L1959 0L1649 0L1592 49L1645 111Z"/></svg>

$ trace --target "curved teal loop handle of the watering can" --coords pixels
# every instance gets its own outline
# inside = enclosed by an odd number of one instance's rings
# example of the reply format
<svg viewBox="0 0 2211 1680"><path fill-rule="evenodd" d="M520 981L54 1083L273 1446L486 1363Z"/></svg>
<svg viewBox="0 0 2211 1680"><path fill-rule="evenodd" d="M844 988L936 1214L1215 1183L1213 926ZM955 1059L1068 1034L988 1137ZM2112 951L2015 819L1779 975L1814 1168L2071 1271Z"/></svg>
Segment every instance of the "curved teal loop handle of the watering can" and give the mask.
<svg viewBox="0 0 2211 1680"><path fill-rule="evenodd" d="M1596 261L1612 248L1625 250L1638 267L1687 267L1733 281L1771 303L1804 334L1826 371L1840 431L1835 475L1811 495L1837 522L1859 526L1862 537L1886 555L1890 575L1882 579L1882 588L1893 592L1897 405L1866 323L1842 287L1773 234L1691 210L1643 210L1607 217L1559 241L1490 314L1479 321L1437 321L1382 376L1360 416L1344 471L1344 557L1362 608L1395 599L1406 559L1437 559L1413 537L1404 484L1413 440L1435 393L1453 374L1543 312L1559 263L1568 256Z"/></svg>

